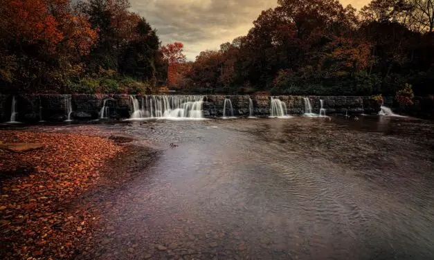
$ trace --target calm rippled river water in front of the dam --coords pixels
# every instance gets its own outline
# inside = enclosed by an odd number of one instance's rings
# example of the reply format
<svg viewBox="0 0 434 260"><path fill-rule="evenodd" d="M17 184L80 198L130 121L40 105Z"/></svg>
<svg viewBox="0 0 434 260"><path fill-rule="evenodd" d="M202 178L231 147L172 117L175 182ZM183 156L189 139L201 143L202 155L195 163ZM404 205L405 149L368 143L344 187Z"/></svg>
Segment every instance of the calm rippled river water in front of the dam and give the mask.
<svg viewBox="0 0 434 260"><path fill-rule="evenodd" d="M100 198L105 228L82 258L434 259L433 126L388 117L93 126L161 153Z"/></svg>

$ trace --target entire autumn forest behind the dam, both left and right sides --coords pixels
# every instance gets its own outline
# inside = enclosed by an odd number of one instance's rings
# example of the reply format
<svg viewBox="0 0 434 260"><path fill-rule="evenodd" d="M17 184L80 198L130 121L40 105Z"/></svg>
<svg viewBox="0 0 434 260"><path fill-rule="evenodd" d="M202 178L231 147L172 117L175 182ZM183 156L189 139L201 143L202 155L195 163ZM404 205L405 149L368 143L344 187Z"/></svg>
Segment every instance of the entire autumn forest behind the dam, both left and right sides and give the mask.
<svg viewBox="0 0 434 260"><path fill-rule="evenodd" d="M8 92L273 95L434 94L434 1L278 0L247 35L186 62L183 44L127 0L10 0L0 6ZM5 19L9 17L9 19ZM168 81L175 68L174 80Z"/></svg>

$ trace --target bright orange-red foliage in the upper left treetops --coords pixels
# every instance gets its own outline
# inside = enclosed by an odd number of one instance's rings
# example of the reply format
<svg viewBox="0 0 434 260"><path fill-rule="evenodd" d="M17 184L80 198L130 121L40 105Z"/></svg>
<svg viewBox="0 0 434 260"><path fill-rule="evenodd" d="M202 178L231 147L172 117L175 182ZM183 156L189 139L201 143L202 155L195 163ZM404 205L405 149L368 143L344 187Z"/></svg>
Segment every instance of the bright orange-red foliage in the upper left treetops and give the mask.
<svg viewBox="0 0 434 260"><path fill-rule="evenodd" d="M73 15L70 0L11 0L7 1L6 16L10 17L7 30L17 41L28 44L45 42L53 52L63 44L80 55L89 53L97 39L86 17Z"/></svg>

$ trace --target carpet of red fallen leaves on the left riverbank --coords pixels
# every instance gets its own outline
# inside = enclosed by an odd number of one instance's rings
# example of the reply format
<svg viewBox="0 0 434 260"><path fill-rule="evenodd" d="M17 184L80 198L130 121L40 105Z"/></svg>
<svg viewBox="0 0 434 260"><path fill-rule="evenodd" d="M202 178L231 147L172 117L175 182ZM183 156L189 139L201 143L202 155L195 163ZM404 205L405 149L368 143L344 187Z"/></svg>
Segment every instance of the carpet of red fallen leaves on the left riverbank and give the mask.
<svg viewBox="0 0 434 260"><path fill-rule="evenodd" d="M105 160L122 148L66 133L0 131L0 141L44 144L26 153L0 150L0 259L71 258L99 216L65 207L96 183Z"/></svg>

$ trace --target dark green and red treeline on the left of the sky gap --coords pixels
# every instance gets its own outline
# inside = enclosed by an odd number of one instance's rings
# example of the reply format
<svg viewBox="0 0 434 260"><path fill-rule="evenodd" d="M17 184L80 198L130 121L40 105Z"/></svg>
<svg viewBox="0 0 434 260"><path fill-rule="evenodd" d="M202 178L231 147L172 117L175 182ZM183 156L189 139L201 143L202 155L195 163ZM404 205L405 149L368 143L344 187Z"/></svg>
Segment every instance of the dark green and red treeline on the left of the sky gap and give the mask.
<svg viewBox="0 0 434 260"><path fill-rule="evenodd" d="M167 75L156 30L127 0L8 0L2 92L155 92Z"/></svg>

